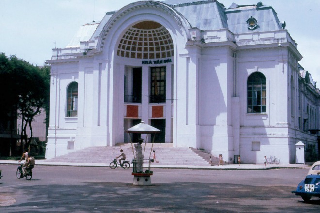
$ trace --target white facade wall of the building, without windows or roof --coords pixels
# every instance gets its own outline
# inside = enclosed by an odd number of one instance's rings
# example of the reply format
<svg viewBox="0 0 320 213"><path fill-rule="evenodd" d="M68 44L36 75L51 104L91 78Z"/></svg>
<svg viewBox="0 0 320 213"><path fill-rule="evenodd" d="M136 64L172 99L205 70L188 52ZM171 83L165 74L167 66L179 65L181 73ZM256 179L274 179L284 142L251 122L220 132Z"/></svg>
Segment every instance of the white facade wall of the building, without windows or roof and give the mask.
<svg viewBox="0 0 320 213"><path fill-rule="evenodd" d="M162 59L170 62L143 64L148 59L117 54L126 31L146 20L170 33L174 55ZM70 52L68 48L54 50L60 58L48 61L52 74L47 159L128 141L124 130L131 127L132 119L148 124L165 119L163 142L202 148L214 156L223 154L229 162L241 155L244 163L263 163L264 156L272 155L282 163L293 163L296 142L316 144L316 136L299 130L298 106L305 108L310 101L299 96L297 61L301 55L286 30L242 34L201 30L169 6L147 2L128 5L103 24L94 40L81 42ZM166 67L163 103L149 103L150 70L155 66ZM137 67L142 75L141 103L125 103L124 88L131 94L134 85L130 80L125 85L124 76L133 78L131 70ZM254 72L266 78L263 113L247 112L247 81ZM67 87L74 81L78 82L78 116L66 117ZM137 107L137 117L128 116L128 106ZM153 117L154 106L163 107L163 117ZM319 112L319 102L317 107ZM310 127L319 128L319 121L310 122Z"/></svg>

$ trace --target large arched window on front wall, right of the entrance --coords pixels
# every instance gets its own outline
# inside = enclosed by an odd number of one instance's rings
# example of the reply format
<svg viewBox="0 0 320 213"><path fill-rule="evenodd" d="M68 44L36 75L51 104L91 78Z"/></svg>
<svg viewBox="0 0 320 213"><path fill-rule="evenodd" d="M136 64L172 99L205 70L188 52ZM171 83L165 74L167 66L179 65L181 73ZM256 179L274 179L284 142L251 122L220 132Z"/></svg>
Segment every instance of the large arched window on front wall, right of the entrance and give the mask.
<svg viewBox="0 0 320 213"><path fill-rule="evenodd" d="M266 77L260 72L252 73L248 78L247 88L248 113L266 112Z"/></svg>

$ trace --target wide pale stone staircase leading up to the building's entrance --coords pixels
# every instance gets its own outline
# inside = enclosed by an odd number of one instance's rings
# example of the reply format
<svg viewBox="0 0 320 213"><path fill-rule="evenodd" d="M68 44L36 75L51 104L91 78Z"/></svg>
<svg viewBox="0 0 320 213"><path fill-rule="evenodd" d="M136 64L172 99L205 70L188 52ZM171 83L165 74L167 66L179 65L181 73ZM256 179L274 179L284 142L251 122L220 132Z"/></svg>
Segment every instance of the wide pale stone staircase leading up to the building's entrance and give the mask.
<svg viewBox="0 0 320 213"><path fill-rule="evenodd" d="M152 143L142 144L144 159L149 158L151 146ZM114 147L88 147L76 152L52 158L48 160L48 162L109 163L115 157L120 155L120 149L123 149L123 152L126 154L126 160L131 163L133 159L131 143L119 143ZM135 151L134 146L133 150ZM159 165L209 166L210 155L204 151L196 150L194 148L173 147L172 143L154 143L152 150L156 151L156 157L159 161ZM153 153L151 153L150 158L152 158L152 154ZM86 157L86 162L83 160L84 157ZM90 162L88 162L88 159ZM217 158L212 157L212 161L214 164L218 164Z"/></svg>

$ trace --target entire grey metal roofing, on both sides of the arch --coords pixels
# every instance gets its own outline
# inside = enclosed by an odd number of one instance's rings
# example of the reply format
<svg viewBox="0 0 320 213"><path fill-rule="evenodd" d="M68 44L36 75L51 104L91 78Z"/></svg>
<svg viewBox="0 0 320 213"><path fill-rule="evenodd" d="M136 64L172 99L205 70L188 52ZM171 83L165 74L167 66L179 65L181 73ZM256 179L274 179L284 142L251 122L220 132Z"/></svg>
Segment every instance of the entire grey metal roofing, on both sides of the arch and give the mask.
<svg viewBox="0 0 320 213"><path fill-rule="evenodd" d="M200 30L229 29L234 34L252 32L246 21L252 16L257 20L258 28L253 31L275 31L281 29L276 12L270 6L233 4L230 9L216 0L165 0L179 14L183 15L192 27ZM69 47L79 47L80 41L93 41L115 11L108 12L100 23L90 23L80 27L70 41Z"/></svg>

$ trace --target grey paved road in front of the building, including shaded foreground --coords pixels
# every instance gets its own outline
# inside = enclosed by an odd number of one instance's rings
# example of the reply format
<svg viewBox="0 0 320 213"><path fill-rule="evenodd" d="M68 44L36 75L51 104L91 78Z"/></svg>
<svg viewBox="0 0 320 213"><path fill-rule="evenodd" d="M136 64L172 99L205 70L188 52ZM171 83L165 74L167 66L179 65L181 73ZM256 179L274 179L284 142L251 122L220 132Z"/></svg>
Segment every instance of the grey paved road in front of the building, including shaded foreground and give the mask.
<svg viewBox="0 0 320 213"><path fill-rule="evenodd" d="M131 170L36 166L31 181L0 165L0 212L212 213L319 212L291 191L306 169L154 169L152 186L133 186Z"/></svg>

